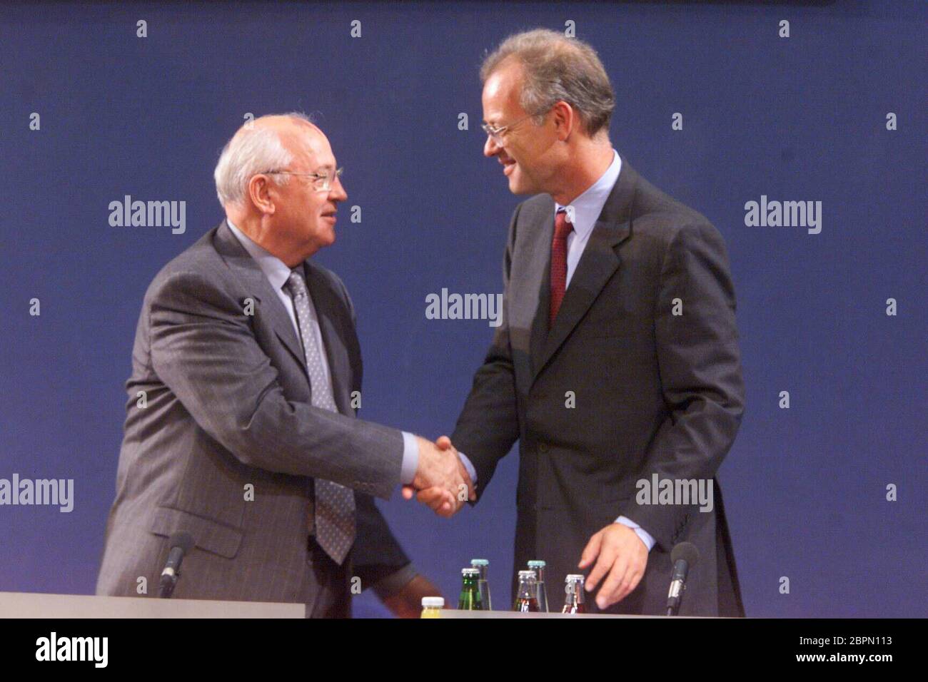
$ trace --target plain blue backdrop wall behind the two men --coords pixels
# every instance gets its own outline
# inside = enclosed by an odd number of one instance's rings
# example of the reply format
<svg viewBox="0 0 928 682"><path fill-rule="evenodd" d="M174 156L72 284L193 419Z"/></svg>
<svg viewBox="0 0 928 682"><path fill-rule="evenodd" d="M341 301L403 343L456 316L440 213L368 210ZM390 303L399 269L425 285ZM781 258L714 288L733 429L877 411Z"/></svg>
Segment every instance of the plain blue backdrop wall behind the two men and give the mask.
<svg viewBox="0 0 928 682"><path fill-rule="evenodd" d="M451 431L492 328L426 319L425 297L501 290L519 200L482 156L479 64L511 32L573 21L616 90L615 148L728 244L747 408L720 480L748 614L928 615L912 588L928 558L926 10L0 7L0 478L75 486L71 513L0 507L0 590L93 591L142 295L222 218L213 166L249 112L316 114L346 169L346 206L361 207L316 257L357 308L362 417ZM186 231L110 226L124 195L186 201ZM745 225L761 195L820 200L820 234ZM398 493L380 502L446 596L483 557L496 599L509 598L517 457L451 521ZM354 611L386 612L367 594Z"/></svg>

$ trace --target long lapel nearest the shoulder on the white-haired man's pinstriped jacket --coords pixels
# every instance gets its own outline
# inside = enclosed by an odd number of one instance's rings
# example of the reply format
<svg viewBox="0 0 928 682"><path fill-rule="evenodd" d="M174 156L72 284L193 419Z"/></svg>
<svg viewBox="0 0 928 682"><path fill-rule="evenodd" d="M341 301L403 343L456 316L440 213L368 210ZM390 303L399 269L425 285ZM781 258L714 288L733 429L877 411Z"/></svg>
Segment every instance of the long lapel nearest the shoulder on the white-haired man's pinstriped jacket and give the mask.
<svg viewBox="0 0 928 682"><path fill-rule="evenodd" d="M255 307L261 307L264 315L270 321L271 327L277 333L277 338L300 363L300 367L303 367L303 374L305 374L306 358L303 354L303 346L293 329L293 323L290 322L287 309L280 302L277 292L271 287L267 277L264 277L261 267L251 258L249 252L245 251L245 247L232 234L225 220L216 230L214 243L216 251L219 251L219 255L223 257L226 264L245 283L248 297L254 299Z"/></svg>

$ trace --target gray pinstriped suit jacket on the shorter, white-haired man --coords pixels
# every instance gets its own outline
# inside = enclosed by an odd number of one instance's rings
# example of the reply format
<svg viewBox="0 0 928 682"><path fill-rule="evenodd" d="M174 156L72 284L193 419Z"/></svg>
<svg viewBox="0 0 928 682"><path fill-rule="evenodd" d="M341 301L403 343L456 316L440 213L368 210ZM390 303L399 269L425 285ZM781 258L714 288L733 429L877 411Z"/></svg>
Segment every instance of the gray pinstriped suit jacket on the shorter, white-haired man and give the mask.
<svg viewBox="0 0 928 682"><path fill-rule="evenodd" d="M349 575L367 588L408 565L371 497L400 482L403 435L355 418L354 308L329 270L307 260L304 271L339 413L312 406L290 317L225 222L148 287L97 594L137 596L140 577L157 594L168 537L186 530L196 547L175 597L311 605L315 477L354 489Z"/></svg>

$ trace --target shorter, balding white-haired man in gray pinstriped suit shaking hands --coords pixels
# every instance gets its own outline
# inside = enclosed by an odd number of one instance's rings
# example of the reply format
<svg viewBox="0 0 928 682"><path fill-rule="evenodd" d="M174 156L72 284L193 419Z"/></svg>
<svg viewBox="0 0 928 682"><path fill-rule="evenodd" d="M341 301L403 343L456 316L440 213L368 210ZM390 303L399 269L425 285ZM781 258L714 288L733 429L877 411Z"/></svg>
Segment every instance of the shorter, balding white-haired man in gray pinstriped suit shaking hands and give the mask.
<svg viewBox="0 0 928 682"><path fill-rule="evenodd" d="M415 616L439 594L371 495L436 486L453 513L473 492L453 449L355 418L354 307L311 259L335 241L341 174L300 114L246 123L223 149L226 220L142 303L97 594L152 593L180 532L194 546L178 598L303 602L332 617L373 586Z"/></svg>

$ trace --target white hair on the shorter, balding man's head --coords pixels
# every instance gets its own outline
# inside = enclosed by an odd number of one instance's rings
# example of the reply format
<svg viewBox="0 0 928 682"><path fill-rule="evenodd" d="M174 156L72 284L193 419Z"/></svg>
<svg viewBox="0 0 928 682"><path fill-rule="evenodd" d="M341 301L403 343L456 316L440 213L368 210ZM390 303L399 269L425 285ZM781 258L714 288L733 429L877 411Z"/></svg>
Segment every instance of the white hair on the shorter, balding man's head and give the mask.
<svg viewBox="0 0 928 682"><path fill-rule="evenodd" d="M312 123L300 111L277 114L297 121ZM284 147L276 130L247 122L232 135L219 154L213 178L216 181L216 196L223 206L241 205L245 200L248 181L262 171L285 168L293 161L293 154ZM290 175L273 175L277 185L286 185Z"/></svg>

